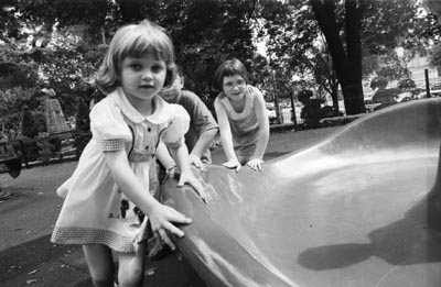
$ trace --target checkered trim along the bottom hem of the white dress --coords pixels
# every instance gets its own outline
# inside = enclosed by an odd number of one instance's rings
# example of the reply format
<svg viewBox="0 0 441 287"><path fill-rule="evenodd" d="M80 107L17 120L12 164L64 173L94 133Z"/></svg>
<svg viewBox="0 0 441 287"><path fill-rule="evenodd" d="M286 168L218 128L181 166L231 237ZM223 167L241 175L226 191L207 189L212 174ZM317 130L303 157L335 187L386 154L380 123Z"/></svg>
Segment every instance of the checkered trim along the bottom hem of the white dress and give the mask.
<svg viewBox="0 0 441 287"><path fill-rule="evenodd" d="M108 230L55 227L51 242L56 244L104 244L117 252L135 252L137 242L147 239L147 232L130 239Z"/></svg>

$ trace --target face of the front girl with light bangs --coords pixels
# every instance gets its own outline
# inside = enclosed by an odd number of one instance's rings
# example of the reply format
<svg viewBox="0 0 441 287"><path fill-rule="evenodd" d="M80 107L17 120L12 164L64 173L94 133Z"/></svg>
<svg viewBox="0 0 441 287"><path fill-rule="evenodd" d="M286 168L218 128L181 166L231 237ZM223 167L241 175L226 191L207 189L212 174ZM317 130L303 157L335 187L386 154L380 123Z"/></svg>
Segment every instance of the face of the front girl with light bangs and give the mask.
<svg viewBox="0 0 441 287"><path fill-rule="evenodd" d="M121 63L120 81L132 103L151 101L164 86L166 64L151 53L142 57L126 57Z"/></svg>

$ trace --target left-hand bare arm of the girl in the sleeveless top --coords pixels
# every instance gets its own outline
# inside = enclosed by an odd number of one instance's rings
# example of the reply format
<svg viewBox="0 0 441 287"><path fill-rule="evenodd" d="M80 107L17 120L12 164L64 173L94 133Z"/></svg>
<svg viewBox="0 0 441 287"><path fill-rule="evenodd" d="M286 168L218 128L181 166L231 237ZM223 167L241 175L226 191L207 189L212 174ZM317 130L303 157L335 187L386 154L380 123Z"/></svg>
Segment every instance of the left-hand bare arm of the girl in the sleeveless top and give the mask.
<svg viewBox="0 0 441 287"><path fill-rule="evenodd" d="M240 163L237 159L237 156L234 152L233 135L232 135L232 129L229 126L227 112L226 112L224 106L217 99L214 102L214 109L216 111L217 122L219 124L222 147L224 148L225 155L228 161L227 163L224 163L223 165L228 168L235 168L236 172L239 172Z"/></svg>

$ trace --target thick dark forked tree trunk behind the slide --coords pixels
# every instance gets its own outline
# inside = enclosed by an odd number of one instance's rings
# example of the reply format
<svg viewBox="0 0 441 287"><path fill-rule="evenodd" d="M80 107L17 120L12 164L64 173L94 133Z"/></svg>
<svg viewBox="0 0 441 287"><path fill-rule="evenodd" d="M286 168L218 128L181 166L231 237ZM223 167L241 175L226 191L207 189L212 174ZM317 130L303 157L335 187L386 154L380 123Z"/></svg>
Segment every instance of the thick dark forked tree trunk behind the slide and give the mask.
<svg viewBox="0 0 441 287"><path fill-rule="evenodd" d="M334 0L310 0L315 19L327 43L333 67L342 86L346 114L365 112L362 86L362 10L356 0L345 0L347 52L335 19Z"/></svg>

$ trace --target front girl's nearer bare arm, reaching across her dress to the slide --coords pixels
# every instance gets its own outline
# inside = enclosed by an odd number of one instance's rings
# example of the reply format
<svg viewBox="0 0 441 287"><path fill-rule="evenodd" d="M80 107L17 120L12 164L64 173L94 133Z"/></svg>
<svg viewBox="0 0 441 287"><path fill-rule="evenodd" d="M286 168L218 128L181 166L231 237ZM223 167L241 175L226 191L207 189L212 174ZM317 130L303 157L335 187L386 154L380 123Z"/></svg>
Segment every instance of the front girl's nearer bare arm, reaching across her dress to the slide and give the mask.
<svg viewBox="0 0 441 287"><path fill-rule="evenodd" d="M110 169L115 183L123 194L148 216L154 234L160 236L172 250L174 250L175 246L171 238L168 235L168 232L182 238L184 232L173 225L173 223L189 224L192 220L173 208L158 202L150 195L149 190L146 190L141 186L129 166L125 150L105 152L104 154L106 164Z"/></svg>

